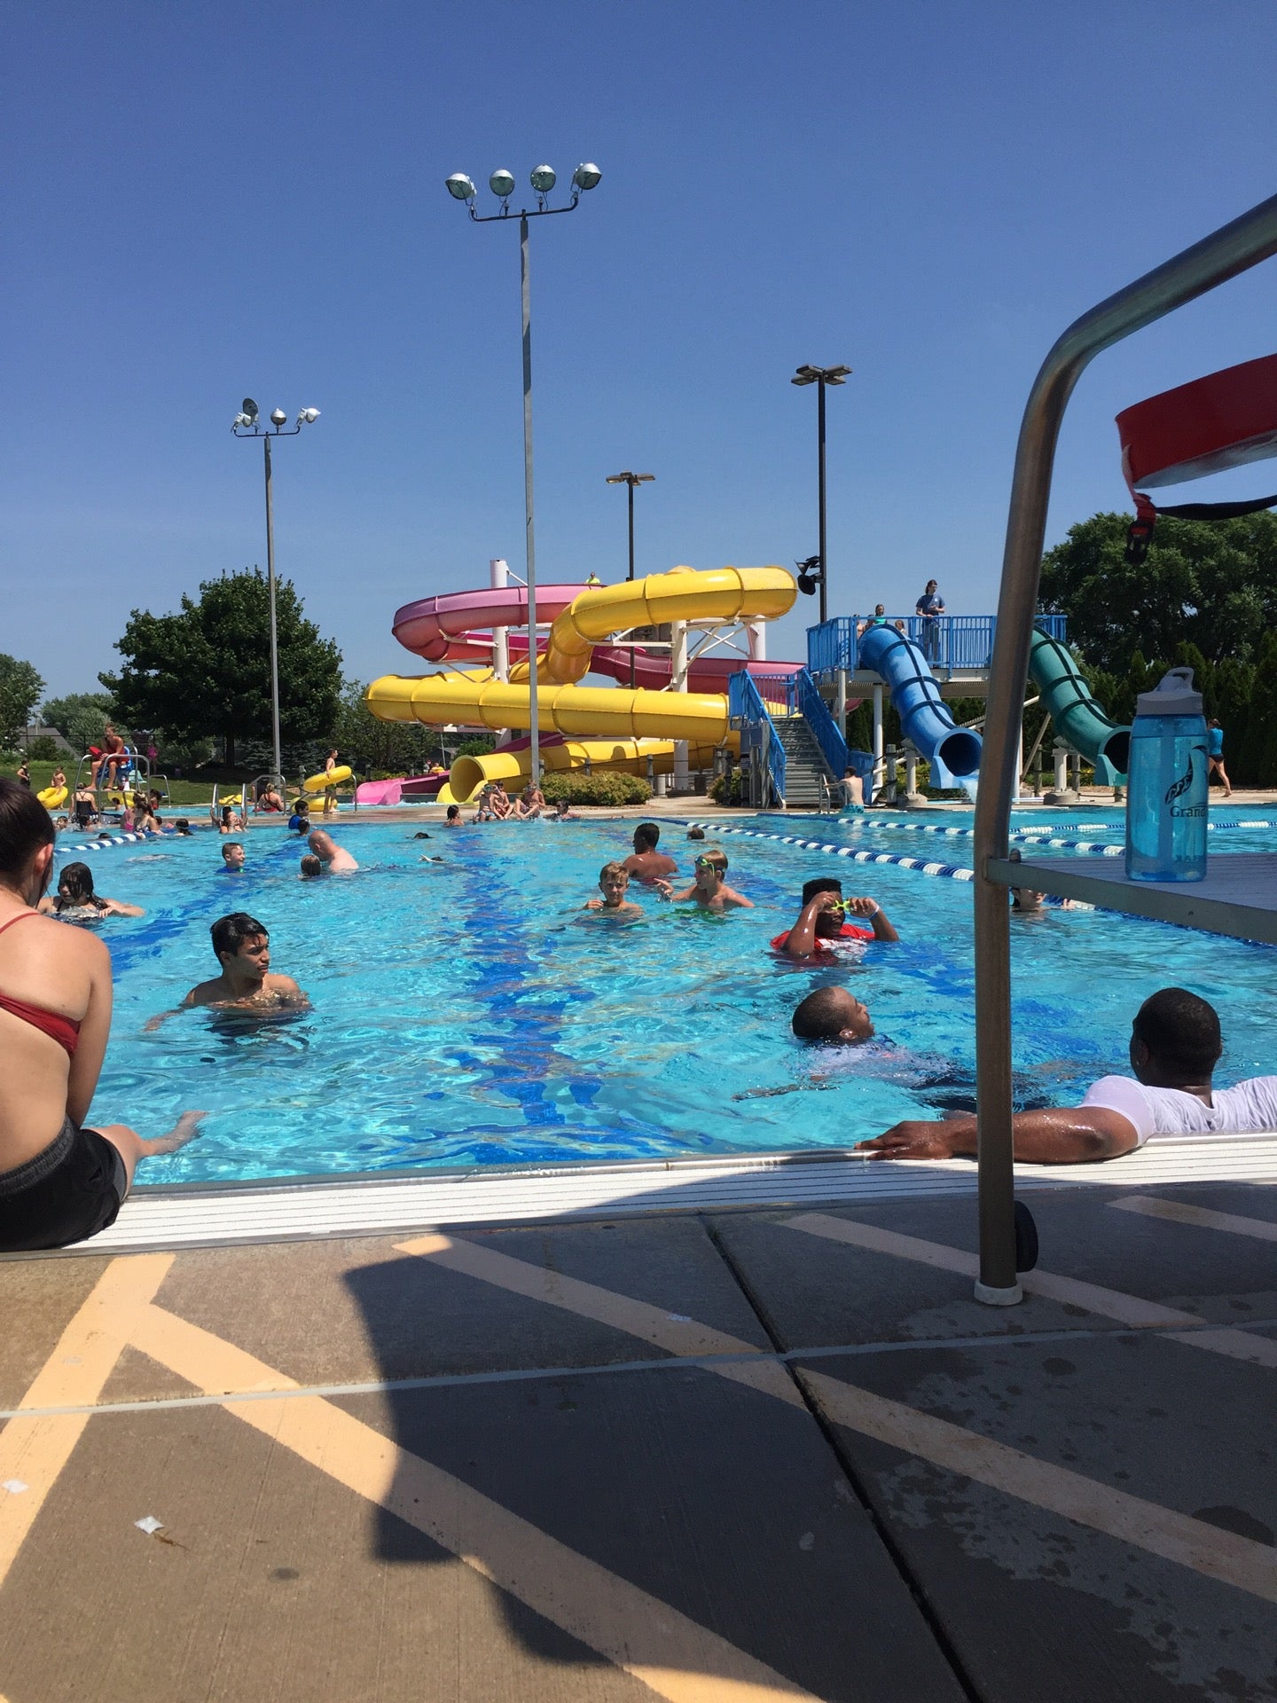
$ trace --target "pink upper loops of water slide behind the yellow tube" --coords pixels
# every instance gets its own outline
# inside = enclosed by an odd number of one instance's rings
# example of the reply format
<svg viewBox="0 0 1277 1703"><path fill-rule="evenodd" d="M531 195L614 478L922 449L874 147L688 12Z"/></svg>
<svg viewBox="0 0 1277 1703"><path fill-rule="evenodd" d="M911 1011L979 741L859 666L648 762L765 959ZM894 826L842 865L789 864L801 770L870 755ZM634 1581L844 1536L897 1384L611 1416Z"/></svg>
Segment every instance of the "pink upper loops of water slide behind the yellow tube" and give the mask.
<svg viewBox="0 0 1277 1703"><path fill-rule="evenodd" d="M555 622L587 586L538 586L536 622ZM528 593L523 586L485 591L453 591L443 598L419 598L395 613L395 639L427 662L492 662L492 627L509 627L511 662L528 659ZM516 628L523 628L518 632ZM627 645L594 645L593 674L610 674L649 691L669 685L669 654ZM790 674L800 662L746 662L742 656L700 656L688 666L690 691L727 691L727 676L747 668L751 674Z"/></svg>

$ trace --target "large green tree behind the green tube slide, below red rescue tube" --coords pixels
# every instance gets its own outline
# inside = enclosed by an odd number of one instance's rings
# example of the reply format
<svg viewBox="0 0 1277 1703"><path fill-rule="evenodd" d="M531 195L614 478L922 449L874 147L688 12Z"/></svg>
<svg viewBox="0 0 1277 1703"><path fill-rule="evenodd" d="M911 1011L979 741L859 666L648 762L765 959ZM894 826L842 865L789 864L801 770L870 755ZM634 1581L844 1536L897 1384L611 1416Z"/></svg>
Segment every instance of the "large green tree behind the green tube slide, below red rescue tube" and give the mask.
<svg viewBox="0 0 1277 1703"><path fill-rule="evenodd" d="M1093 514L1042 559L1042 608L1069 618L1093 668L1125 674L1131 652L1250 661L1277 623L1277 516L1160 519L1148 559L1125 560L1129 514Z"/></svg>

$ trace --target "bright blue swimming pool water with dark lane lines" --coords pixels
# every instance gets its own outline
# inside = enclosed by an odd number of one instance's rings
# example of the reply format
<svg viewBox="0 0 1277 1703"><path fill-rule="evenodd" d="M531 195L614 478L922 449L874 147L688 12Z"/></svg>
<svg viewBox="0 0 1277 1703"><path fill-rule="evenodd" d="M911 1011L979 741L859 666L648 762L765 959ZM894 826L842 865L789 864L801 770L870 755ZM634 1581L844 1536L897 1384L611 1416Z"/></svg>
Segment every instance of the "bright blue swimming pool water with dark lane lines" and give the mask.
<svg viewBox="0 0 1277 1703"><path fill-rule="evenodd" d="M962 836L863 817L732 826L969 863ZM644 920L610 925L579 906L599 865L628 850L630 824L415 831L344 819L339 838L363 869L320 882L296 879L303 846L274 828L247 836L242 877L221 872L211 833L87 857L99 891L148 908L102 925L116 1018L90 1122L158 1134L179 1110L209 1112L196 1143L148 1161L140 1180L845 1148L901 1117L972 1105L967 882L724 834L729 879L758 909L710 918L632 889ZM690 870L684 836L669 823L662 843ZM1263 838L1228 845L1260 850ZM446 863L421 863L426 852ZM819 969L770 952L804 879L824 870L880 899L901 945ZM208 926L232 909L269 926L272 967L296 976L313 1012L269 1024L182 1012L148 1034L150 1017L216 974ZM1170 981L1219 1006L1224 1081L1274 1068L1267 947L1047 911L1015 921L1013 964L1020 1104L1066 1100L1124 1069L1131 1013ZM851 986L897 1051L800 1047L788 1018L822 981Z"/></svg>

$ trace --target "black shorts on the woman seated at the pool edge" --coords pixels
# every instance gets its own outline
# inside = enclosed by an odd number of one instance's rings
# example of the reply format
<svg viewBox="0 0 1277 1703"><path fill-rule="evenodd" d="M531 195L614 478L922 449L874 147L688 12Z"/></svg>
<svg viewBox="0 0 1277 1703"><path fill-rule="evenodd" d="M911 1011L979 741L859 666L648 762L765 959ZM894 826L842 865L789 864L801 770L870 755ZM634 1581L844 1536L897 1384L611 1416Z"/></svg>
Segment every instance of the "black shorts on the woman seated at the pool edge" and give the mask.
<svg viewBox="0 0 1277 1703"><path fill-rule="evenodd" d="M65 1248L114 1224L128 1192L119 1148L66 1119L17 1170L0 1172L0 1253Z"/></svg>

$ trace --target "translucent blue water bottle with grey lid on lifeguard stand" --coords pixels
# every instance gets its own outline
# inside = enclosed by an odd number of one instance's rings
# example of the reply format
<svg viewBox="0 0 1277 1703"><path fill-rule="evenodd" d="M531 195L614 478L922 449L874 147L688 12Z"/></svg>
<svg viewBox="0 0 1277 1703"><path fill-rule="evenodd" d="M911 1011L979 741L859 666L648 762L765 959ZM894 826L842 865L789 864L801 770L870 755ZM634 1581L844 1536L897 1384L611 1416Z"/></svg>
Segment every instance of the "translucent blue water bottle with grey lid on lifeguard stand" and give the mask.
<svg viewBox="0 0 1277 1703"><path fill-rule="evenodd" d="M1131 725L1125 872L1131 880L1205 877L1207 780L1202 695L1194 671L1173 668L1141 691Z"/></svg>

